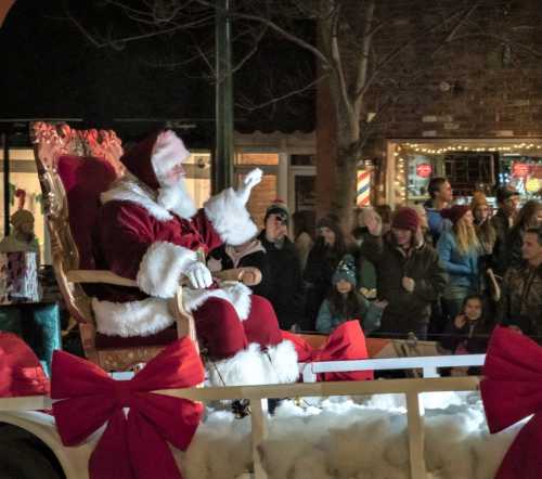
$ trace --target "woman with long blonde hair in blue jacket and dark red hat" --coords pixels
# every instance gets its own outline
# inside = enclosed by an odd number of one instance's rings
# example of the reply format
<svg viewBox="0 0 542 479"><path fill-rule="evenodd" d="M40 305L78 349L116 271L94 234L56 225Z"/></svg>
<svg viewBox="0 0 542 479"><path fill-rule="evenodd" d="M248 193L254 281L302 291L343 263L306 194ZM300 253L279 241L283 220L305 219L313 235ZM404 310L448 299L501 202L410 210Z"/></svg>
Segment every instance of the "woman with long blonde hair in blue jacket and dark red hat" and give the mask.
<svg viewBox="0 0 542 479"><path fill-rule="evenodd" d="M441 215L452 223L440 235L437 250L449 276L442 303L448 318L453 319L460 312L465 297L480 289L478 261L482 250L468 206L454 205L443 209Z"/></svg>

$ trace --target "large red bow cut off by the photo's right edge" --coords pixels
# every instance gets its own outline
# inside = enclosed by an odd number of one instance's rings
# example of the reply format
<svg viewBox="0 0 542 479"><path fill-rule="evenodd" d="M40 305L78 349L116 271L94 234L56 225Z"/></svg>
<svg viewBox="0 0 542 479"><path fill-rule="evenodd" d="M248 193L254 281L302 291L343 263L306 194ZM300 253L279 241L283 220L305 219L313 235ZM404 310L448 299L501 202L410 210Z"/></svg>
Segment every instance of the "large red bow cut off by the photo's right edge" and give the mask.
<svg viewBox="0 0 542 479"><path fill-rule="evenodd" d="M495 479L542 477L542 348L507 327L491 336L481 399L491 433L533 414L509 446Z"/></svg>

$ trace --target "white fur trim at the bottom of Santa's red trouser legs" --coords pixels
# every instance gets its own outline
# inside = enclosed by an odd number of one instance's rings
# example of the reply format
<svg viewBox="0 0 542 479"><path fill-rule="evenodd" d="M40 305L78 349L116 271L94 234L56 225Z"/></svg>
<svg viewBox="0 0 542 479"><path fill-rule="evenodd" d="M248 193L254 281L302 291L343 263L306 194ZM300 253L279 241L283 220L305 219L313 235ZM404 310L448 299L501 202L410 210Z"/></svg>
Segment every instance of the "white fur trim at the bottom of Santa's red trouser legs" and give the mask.
<svg viewBox="0 0 542 479"><path fill-rule="evenodd" d="M261 351L253 342L233 358L207 363L207 379L212 386L254 386L293 383L299 377L297 354L291 341Z"/></svg>

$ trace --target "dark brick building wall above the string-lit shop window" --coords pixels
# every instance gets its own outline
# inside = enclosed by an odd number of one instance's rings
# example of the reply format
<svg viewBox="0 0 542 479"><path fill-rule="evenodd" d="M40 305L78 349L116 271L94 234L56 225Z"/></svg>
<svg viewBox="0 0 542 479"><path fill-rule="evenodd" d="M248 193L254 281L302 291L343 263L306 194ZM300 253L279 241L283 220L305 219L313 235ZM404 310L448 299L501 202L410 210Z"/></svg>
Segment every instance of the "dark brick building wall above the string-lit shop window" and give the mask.
<svg viewBox="0 0 542 479"><path fill-rule="evenodd" d="M429 3L434 7L426 8ZM451 2L438 3L442 12L453 12ZM462 2L456 3L462 7ZM374 48L390 52L408 46L391 65L389 76L395 78L393 68L404 68L411 78L398 89L392 106L376 119L375 131L360 158L375 165L373 203L409 200L409 166L397 150L403 142L423 144L424 150L461 151L463 156L502 150L537 164L539 157L533 152L540 150L538 139L542 138L539 3L486 2L465 22L457 22L455 39L442 43L437 53L438 39L415 39L435 16L430 10L437 8L435 2L399 0L380 4L391 9L386 13L388 26L375 37ZM377 111L388 85L383 81L370 90L364 115ZM326 86L319 88L317 105L317 204L319 213L323 213L328 203L322 195L333 189L335 126L334 115L330 114L333 99ZM428 155L428 161L435 163L434 156ZM495 165L493 183L508 179ZM447 168L439 172L446 173ZM489 190L490 185L486 186ZM465 184L464 190L467 187Z"/></svg>

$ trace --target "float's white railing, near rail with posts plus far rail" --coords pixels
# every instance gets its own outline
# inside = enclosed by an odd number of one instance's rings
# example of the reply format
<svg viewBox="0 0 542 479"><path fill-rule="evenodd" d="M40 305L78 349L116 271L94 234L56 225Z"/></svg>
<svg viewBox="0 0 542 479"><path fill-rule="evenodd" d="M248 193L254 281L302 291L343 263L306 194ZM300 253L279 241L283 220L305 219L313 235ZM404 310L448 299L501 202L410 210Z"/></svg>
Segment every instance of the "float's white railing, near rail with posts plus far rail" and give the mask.
<svg viewBox="0 0 542 479"><path fill-rule="evenodd" d="M308 363L302 365L304 377L315 377L323 372L347 372L363 370L412 370L420 368L424 374L436 374L437 367L468 366L483 364L485 354L454 357L395 358L360 361L336 361L326 363ZM122 375L119 379L129 378ZM193 401L217 401L247 399L250 404L251 442L254 479L267 479L261 464L259 445L268 437L268 398L363 396L363 394L404 394L406 398L406 419L410 453L411 479L425 479L426 465L424 458L424 409L420 401L422 392L437 391L472 391L477 390L479 378L467 377L424 377L416 379L387 379L341 383L305 383L288 385L262 386L228 386L189 389L165 389L156 393L185 398ZM52 401L47 396L0 399L0 411L36 411L50 409ZM246 477L246 475L245 475Z"/></svg>

